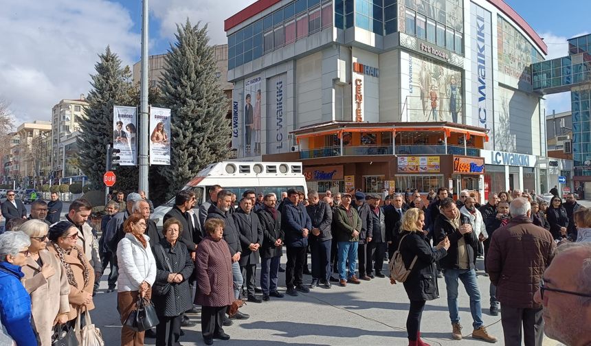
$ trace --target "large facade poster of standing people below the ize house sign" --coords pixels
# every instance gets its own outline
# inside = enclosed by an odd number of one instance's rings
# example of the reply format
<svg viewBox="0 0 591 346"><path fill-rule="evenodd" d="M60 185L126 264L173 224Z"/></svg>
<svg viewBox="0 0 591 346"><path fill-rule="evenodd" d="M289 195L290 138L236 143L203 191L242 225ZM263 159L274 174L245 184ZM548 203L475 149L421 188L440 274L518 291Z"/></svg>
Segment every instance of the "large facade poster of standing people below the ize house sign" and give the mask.
<svg viewBox="0 0 591 346"><path fill-rule="evenodd" d="M401 102L408 122L462 123L462 72L401 52Z"/></svg>

